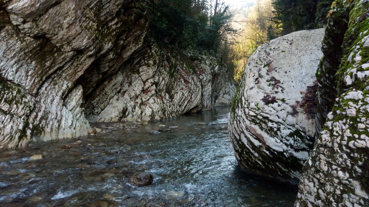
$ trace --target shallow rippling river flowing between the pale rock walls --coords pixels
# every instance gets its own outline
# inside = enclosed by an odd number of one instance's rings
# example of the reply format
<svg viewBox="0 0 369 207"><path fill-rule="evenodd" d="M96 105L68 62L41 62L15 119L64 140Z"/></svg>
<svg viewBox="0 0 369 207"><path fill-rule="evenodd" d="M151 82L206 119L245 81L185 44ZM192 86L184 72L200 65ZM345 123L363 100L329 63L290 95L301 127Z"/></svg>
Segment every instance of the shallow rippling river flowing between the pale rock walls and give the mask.
<svg viewBox="0 0 369 207"><path fill-rule="evenodd" d="M79 138L80 146L61 140L1 152L0 206L293 206L296 186L238 168L228 110L214 108L138 129L104 129ZM148 133L159 124L178 128ZM30 160L35 154L43 158ZM139 172L151 173L154 182L130 185L128 178Z"/></svg>

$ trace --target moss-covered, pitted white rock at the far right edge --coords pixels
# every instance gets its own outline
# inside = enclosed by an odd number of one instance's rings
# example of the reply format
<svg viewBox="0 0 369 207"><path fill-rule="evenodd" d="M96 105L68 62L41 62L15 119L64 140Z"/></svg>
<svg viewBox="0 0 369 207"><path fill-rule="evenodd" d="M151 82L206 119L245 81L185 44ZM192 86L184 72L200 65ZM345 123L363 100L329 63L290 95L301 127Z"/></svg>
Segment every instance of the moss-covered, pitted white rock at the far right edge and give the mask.
<svg viewBox="0 0 369 207"><path fill-rule="evenodd" d="M369 206L368 10L364 0L332 5L325 41L334 48L343 42L343 58L338 71L320 73L335 77L338 94L304 166L295 206ZM340 32L346 33L343 41L337 41L343 21L348 29Z"/></svg>

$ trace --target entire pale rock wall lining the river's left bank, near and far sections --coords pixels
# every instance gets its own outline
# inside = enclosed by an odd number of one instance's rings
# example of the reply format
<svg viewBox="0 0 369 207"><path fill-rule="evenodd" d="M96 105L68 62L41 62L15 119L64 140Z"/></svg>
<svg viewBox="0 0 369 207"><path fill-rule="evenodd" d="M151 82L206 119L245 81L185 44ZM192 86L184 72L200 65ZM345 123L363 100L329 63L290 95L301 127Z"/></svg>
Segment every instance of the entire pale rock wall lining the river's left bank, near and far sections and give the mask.
<svg viewBox="0 0 369 207"><path fill-rule="evenodd" d="M170 59L142 45L147 27L141 0L0 1L0 149L87 135L86 117L169 118L230 102L224 67L201 56L185 70L190 52Z"/></svg>

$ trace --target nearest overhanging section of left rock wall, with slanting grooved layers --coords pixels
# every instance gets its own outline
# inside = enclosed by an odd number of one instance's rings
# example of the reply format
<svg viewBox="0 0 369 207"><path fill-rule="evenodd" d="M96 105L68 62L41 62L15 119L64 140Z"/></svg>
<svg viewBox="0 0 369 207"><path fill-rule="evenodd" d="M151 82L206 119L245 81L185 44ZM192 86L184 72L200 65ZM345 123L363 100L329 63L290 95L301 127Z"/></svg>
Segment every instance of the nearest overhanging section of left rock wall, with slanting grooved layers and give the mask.
<svg viewBox="0 0 369 207"><path fill-rule="evenodd" d="M77 82L83 82L79 78L92 65L120 67L115 59L127 60L141 45L148 25L145 4L124 0L0 4L0 149L86 135L84 89ZM134 26L124 26L127 20ZM101 80L115 70L104 69L94 77Z"/></svg>

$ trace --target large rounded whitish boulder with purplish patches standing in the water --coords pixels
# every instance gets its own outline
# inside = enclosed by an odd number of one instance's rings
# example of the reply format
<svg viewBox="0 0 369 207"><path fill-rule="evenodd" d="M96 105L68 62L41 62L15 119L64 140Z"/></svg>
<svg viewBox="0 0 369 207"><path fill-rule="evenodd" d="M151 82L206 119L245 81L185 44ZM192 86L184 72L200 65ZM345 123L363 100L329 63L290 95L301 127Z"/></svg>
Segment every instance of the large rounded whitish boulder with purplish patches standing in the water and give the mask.
<svg viewBox="0 0 369 207"><path fill-rule="evenodd" d="M299 31L250 57L229 115L239 165L297 183L314 143L315 71L324 29Z"/></svg>

